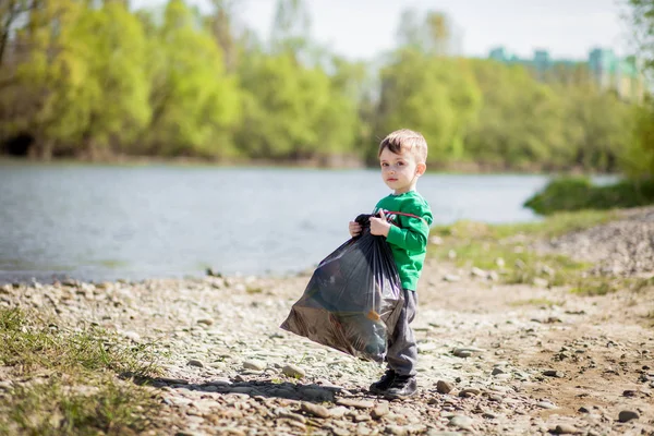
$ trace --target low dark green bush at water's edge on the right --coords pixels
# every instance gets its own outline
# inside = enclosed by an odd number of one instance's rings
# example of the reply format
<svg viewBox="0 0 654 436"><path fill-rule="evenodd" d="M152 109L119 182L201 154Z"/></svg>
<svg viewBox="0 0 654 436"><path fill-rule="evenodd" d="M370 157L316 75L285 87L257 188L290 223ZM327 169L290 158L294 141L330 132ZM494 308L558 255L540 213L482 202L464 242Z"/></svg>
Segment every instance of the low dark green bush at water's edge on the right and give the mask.
<svg viewBox="0 0 654 436"><path fill-rule="evenodd" d="M585 178L564 178L549 182L524 206L542 215L561 210L613 209L654 203L654 182L621 181L596 186Z"/></svg>

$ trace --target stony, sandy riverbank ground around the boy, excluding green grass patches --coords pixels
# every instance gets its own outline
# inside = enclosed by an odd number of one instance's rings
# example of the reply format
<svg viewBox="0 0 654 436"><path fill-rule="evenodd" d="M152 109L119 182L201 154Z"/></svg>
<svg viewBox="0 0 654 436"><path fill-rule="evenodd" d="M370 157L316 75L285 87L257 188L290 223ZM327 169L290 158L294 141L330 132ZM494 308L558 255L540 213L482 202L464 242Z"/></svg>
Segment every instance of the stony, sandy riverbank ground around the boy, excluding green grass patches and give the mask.
<svg viewBox="0 0 654 436"><path fill-rule="evenodd" d="M614 280L610 271L593 269L605 258L600 253L614 255L611 238L619 242L640 232L634 246L645 250L638 241L653 234L652 210L633 214L578 219L581 226L561 227L560 234L552 226L547 232L492 228L479 246L471 245L474 233L435 230L414 324L420 391L404 401L367 392L383 372L378 365L279 329L306 275L4 286L0 307L31 314L23 330L37 329L39 319L59 337L98 329L108 335L108 355L122 350L119 355L130 359L131 365L118 360L69 378L72 387L65 377L57 380L71 398L97 395L94 379L107 377L121 389L145 392L134 395L133 409L120 423L114 419L113 427L90 415L85 425L105 434L651 434L654 289L644 274L652 271L650 264L639 264L638 277L620 276L638 279L638 288L619 281L610 292L571 292L573 284L544 278L555 277L558 266L541 257L576 255L579 241L591 238L594 244L579 253L595 257L582 255L579 274ZM465 238L472 242L462 250ZM480 254L487 243L494 246L489 241L533 255L520 265L507 255L499 261L496 252ZM495 267L482 266L475 261L481 258ZM537 264L535 276L509 280L516 268ZM0 433L21 427L28 433L40 422L46 434L66 434L68 415L47 404L31 402L33 409L24 409L32 416L22 421L4 413L61 377L38 364L3 359Z"/></svg>

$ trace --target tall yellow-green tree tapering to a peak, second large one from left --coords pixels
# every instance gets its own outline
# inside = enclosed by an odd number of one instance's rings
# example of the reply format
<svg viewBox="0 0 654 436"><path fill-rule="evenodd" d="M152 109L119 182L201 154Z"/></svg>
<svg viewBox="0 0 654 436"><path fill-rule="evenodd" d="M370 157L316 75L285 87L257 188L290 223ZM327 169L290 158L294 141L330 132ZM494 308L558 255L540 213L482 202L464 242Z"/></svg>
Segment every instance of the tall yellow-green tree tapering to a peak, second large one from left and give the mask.
<svg viewBox="0 0 654 436"><path fill-rule="evenodd" d="M147 27L153 118L141 146L164 156L229 154L241 97L219 47L182 0L169 1L160 27Z"/></svg>

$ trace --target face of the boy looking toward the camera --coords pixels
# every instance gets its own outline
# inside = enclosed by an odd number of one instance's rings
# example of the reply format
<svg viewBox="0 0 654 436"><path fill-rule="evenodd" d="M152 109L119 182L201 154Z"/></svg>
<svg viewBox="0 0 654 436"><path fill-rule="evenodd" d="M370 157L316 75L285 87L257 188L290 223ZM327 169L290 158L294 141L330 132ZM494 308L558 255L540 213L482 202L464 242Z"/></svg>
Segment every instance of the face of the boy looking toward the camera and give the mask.
<svg viewBox="0 0 654 436"><path fill-rule="evenodd" d="M379 155L382 179L396 194L403 194L415 189L417 178L425 172L426 166L415 160L410 152L395 154L384 148Z"/></svg>

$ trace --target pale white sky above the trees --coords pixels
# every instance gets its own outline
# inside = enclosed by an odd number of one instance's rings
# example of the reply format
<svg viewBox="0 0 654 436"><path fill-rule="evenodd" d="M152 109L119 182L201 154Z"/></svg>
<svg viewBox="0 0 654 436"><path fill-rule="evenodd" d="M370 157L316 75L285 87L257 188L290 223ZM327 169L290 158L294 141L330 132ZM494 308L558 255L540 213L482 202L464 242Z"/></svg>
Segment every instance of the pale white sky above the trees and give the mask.
<svg viewBox="0 0 654 436"><path fill-rule="evenodd" d="M186 0L208 10L208 0ZM596 47L620 56L629 50L626 0L304 0L312 19L311 35L319 44L351 59L372 59L392 49L401 12L445 12L460 34L463 56L486 57L504 46L510 53L532 57L547 49L554 58L583 60ZM135 8L162 0L132 0ZM241 0L239 19L264 39L270 33L276 0Z"/></svg>

